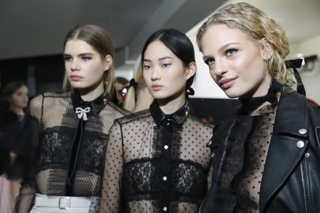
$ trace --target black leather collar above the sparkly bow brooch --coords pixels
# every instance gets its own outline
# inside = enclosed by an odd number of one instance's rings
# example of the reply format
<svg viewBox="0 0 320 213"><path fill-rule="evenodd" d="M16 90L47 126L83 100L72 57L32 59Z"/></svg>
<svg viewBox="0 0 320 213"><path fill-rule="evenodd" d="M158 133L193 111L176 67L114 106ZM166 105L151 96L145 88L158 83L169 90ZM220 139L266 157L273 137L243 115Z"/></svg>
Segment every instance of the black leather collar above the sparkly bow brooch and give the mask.
<svg viewBox="0 0 320 213"><path fill-rule="evenodd" d="M90 103L92 105L92 107L95 109L95 111L97 113L99 113L101 111L101 109L107 104L108 95L106 92L103 92L99 97L88 102L88 101L84 101L81 98L79 91L77 89L75 89L72 92L71 99L72 99L72 104L73 104L74 110L76 110L77 107L79 107L85 103Z"/></svg>

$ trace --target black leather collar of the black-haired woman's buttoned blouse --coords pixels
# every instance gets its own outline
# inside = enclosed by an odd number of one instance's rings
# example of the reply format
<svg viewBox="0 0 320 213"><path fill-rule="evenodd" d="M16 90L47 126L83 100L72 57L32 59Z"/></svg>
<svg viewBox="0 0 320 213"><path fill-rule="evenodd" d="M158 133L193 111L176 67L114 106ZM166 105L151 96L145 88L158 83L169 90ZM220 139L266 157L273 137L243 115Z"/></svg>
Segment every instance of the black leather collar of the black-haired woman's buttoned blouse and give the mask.
<svg viewBox="0 0 320 213"><path fill-rule="evenodd" d="M188 101L186 101L181 108L179 108L176 112L172 114L163 113L156 100L154 100L151 103L149 109L153 117L153 120L157 125L160 125L166 119L171 120L175 124L181 125L190 113Z"/></svg>

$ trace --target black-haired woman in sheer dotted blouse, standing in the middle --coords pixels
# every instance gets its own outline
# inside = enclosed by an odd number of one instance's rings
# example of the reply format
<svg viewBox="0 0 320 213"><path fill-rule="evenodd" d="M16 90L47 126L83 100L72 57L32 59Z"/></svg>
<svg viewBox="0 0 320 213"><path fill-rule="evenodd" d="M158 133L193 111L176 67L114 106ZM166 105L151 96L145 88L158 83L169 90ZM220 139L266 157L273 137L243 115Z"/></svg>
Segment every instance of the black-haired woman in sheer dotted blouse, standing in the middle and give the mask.
<svg viewBox="0 0 320 213"><path fill-rule="evenodd" d="M190 115L192 43L161 29L146 41L141 61L154 101L115 120L109 132L100 213L196 212L207 189L212 128Z"/></svg>

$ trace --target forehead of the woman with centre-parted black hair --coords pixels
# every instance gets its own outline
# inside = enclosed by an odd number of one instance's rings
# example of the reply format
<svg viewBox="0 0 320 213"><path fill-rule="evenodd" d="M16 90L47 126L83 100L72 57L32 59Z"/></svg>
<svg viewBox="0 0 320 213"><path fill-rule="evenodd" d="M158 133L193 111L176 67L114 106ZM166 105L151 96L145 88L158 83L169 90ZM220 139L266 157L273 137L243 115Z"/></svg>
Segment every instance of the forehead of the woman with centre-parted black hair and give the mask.
<svg viewBox="0 0 320 213"><path fill-rule="evenodd" d="M158 60L165 56L175 58L175 54L159 40L151 42L144 52L144 58L149 60Z"/></svg>

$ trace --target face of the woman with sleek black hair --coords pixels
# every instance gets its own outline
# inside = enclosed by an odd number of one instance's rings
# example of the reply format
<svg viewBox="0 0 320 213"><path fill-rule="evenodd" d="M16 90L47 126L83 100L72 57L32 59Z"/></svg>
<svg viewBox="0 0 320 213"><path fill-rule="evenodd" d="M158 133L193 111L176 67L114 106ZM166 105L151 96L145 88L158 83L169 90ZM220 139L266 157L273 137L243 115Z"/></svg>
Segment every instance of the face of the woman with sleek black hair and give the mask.
<svg viewBox="0 0 320 213"><path fill-rule="evenodd" d="M144 52L143 77L155 99L167 99L185 92L187 80L195 71L195 63L185 67L161 41L150 43Z"/></svg>

